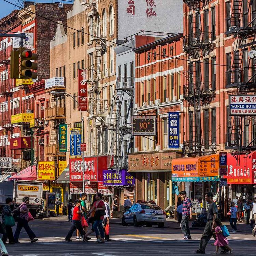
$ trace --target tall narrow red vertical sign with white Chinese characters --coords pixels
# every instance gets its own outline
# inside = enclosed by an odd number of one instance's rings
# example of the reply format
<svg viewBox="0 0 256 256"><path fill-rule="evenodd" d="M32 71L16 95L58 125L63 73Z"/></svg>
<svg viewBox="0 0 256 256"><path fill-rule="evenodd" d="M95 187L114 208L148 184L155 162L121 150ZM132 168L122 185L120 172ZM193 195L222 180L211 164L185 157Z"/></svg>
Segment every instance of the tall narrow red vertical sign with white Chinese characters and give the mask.
<svg viewBox="0 0 256 256"><path fill-rule="evenodd" d="M82 111L88 110L88 87L86 80L86 70L78 70L78 103ZM79 109L78 106L78 109Z"/></svg>

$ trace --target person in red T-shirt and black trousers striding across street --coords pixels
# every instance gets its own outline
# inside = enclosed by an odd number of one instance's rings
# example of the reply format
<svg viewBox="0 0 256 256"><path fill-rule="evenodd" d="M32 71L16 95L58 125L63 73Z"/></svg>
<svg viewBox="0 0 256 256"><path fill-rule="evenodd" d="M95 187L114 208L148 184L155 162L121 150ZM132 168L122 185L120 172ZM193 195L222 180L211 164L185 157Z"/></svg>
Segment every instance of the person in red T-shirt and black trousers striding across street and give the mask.
<svg viewBox="0 0 256 256"><path fill-rule="evenodd" d="M86 240L84 239L85 236L85 232L84 229L82 227L81 224L81 217L82 217L82 213L83 211L80 210L80 206L81 206L81 201L80 200L75 200L75 207L74 207L74 211L73 211L73 217L72 217L72 226L65 238L65 241L67 242L72 242L71 237L74 233L74 231L77 229L80 234L82 235L82 239L85 242Z"/></svg>

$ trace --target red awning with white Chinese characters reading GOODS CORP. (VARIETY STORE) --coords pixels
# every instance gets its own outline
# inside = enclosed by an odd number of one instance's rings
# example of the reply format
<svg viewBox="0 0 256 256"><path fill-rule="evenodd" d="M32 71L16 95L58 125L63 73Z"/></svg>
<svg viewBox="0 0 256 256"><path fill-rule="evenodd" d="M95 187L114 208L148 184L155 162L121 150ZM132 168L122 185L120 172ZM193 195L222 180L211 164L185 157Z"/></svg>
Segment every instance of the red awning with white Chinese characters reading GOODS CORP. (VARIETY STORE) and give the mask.
<svg viewBox="0 0 256 256"><path fill-rule="evenodd" d="M256 151L246 155L227 154L228 184L256 184Z"/></svg>

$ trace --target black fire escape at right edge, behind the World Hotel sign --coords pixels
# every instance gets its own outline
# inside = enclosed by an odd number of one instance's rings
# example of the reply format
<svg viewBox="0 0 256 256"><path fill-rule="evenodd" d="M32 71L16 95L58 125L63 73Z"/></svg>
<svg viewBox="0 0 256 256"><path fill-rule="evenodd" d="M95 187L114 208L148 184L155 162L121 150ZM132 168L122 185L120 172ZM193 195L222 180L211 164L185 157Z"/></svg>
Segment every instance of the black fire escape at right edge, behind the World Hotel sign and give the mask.
<svg viewBox="0 0 256 256"><path fill-rule="evenodd" d="M232 95L255 95L256 88L256 1L231 1L230 17L226 18L226 35L236 38L226 71L226 88ZM249 52L252 52L249 55ZM232 60L232 61L231 61ZM255 119L250 116L229 116L226 149L237 153L256 149ZM252 127L252 132L249 131Z"/></svg>

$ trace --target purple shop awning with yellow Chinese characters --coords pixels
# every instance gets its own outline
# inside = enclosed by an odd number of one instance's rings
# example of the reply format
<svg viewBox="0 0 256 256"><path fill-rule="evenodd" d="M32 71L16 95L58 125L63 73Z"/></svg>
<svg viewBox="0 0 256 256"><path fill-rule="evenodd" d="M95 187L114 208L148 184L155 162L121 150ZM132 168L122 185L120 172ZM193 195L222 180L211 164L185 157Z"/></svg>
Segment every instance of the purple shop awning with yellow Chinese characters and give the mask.
<svg viewBox="0 0 256 256"><path fill-rule="evenodd" d="M127 170L103 170L103 184L110 186L133 186L134 177Z"/></svg>

